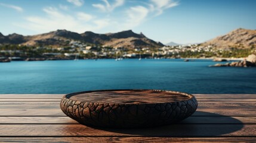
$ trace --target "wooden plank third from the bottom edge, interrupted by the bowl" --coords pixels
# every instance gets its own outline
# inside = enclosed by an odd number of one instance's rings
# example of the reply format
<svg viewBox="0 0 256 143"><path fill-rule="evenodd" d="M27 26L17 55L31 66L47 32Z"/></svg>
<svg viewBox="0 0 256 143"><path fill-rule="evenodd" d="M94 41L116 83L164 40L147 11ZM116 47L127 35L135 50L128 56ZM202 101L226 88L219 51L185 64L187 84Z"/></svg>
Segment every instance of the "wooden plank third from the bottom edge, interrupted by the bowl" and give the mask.
<svg viewBox="0 0 256 143"><path fill-rule="evenodd" d="M70 117L0 117L0 124L78 124ZM184 124L256 124L256 117L190 116Z"/></svg>

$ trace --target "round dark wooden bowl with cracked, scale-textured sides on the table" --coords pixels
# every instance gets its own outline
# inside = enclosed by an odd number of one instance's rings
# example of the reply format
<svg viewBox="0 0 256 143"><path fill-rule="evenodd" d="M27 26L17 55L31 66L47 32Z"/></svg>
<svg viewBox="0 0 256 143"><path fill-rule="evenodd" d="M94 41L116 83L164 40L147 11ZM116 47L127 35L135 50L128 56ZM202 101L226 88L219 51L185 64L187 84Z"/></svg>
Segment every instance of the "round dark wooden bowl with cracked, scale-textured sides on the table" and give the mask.
<svg viewBox="0 0 256 143"><path fill-rule="evenodd" d="M79 123L107 128L168 125L186 119L197 107L191 94L141 89L76 92L60 102L61 110Z"/></svg>

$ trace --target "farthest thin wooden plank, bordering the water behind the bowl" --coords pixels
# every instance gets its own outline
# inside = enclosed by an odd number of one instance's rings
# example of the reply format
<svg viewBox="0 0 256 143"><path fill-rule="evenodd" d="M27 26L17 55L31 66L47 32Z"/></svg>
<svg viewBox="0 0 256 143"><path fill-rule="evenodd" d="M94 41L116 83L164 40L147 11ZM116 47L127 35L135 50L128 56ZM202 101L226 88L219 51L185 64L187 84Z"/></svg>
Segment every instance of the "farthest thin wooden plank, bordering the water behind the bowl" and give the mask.
<svg viewBox="0 0 256 143"><path fill-rule="evenodd" d="M65 94L0 94L0 98L62 98ZM196 98L256 98L256 94L193 94Z"/></svg>

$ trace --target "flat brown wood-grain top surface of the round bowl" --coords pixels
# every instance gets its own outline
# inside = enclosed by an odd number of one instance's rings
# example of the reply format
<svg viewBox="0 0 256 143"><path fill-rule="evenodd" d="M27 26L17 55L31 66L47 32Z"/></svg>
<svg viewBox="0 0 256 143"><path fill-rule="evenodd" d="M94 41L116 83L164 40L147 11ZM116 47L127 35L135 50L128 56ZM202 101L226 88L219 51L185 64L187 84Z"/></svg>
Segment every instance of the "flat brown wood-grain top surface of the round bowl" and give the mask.
<svg viewBox="0 0 256 143"><path fill-rule="evenodd" d="M113 104L155 104L179 102L193 98L192 95L155 90L124 90L124 91L88 91L79 94L67 95L69 100L84 102L104 102Z"/></svg>

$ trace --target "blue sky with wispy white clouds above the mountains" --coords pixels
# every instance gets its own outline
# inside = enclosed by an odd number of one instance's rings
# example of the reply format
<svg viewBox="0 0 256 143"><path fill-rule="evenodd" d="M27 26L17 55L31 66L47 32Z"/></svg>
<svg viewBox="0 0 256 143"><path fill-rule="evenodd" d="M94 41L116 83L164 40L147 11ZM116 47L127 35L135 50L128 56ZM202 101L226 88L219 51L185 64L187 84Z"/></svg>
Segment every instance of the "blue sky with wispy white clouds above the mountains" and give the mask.
<svg viewBox="0 0 256 143"><path fill-rule="evenodd" d="M0 32L35 35L132 29L162 43L198 43L256 29L255 0L0 0Z"/></svg>

